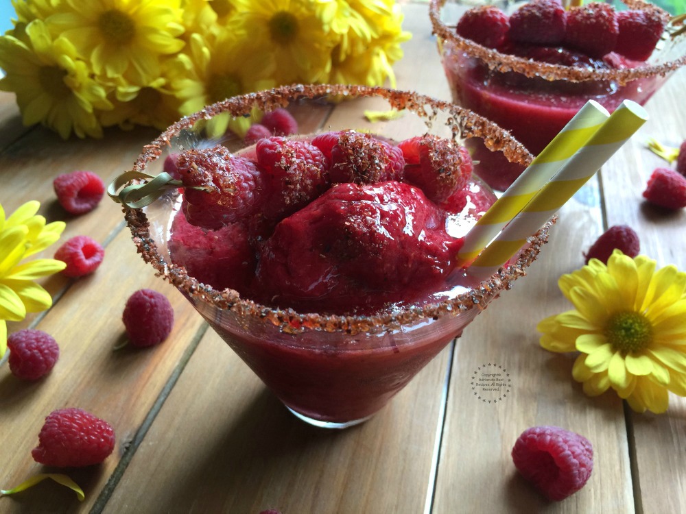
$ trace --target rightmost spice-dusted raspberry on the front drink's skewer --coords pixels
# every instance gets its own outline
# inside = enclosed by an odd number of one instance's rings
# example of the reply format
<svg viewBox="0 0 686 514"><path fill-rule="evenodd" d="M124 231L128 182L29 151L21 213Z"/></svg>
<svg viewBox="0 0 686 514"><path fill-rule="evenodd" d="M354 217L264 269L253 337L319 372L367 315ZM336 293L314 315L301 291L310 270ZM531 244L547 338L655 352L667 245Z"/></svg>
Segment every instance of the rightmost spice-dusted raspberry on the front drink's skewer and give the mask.
<svg viewBox="0 0 686 514"><path fill-rule="evenodd" d="M460 190L471 176L473 164L466 148L438 136L417 136L398 144L405 158L405 182L440 204Z"/></svg>

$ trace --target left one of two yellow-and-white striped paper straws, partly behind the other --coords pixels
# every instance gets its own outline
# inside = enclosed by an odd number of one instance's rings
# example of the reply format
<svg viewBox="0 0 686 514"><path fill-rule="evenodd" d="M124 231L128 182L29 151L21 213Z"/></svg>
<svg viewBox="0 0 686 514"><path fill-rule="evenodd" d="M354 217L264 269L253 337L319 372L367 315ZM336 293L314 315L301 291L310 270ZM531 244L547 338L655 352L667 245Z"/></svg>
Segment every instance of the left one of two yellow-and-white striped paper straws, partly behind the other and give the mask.
<svg viewBox="0 0 686 514"><path fill-rule="evenodd" d="M539 189L588 142L609 116L610 113L600 103L587 101L469 230L458 252L458 266L469 265Z"/></svg>

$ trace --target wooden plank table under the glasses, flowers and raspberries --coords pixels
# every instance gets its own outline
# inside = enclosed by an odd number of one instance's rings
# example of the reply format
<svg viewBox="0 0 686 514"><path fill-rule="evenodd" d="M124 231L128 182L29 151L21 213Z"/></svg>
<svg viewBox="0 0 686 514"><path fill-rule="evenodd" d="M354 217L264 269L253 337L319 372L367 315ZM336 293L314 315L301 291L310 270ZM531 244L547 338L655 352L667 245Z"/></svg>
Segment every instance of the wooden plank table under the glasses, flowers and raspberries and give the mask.
<svg viewBox="0 0 686 514"><path fill-rule="evenodd" d="M395 69L398 87L449 99L427 5L405 5L414 37ZM53 334L58 365L38 383L0 369L0 488L44 468L31 458L43 418L78 406L113 424L117 445L102 465L70 472L86 500L54 482L0 498L3 513L676 513L686 511L686 400L663 415L636 415L613 393L589 398L571 378L573 356L539 347L536 323L569 308L556 286L578 269L582 250L609 225L626 223L641 250L686 269L686 210L665 214L641 201L662 162L648 136L677 145L686 70L648 103L651 119L560 211L543 256L378 415L356 428L312 428L289 414L171 286L137 256L119 206L108 200L67 217L52 179L90 169L109 182L130 168L152 130L110 130L102 140L64 142L21 126L14 97L0 95L0 201L12 212L29 199L49 221L67 222L62 241L87 234L106 248L102 267L81 280L54 276L47 313L10 323ZM55 247L47 250L51 256ZM141 287L165 293L176 326L149 350L113 352L121 310ZM507 370L510 395L473 395L480 367ZM488 368L490 369L490 368ZM516 474L512 444L525 428L554 424L595 448L593 475L564 502L542 500Z"/></svg>

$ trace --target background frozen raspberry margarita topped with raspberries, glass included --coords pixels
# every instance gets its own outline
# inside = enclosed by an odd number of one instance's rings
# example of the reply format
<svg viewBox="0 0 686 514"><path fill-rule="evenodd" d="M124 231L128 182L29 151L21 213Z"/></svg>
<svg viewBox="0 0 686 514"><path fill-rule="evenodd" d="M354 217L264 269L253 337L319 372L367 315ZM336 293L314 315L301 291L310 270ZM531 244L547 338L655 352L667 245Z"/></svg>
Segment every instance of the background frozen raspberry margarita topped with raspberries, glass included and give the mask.
<svg viewBox="0 0 686 514"><path fill-rule="evenodd" d="M686 41L666 35L663 10L626 3L622 11L600 2L565 10L559 0L532 0L509 15L489 5L452 17L451 2L432 0L453 101L510 130L534 155L588 100L610 112L625 99L646 103L686 62ZM473 152L483 165L476 173L493 188L523 171L478 146Z"/></svg>

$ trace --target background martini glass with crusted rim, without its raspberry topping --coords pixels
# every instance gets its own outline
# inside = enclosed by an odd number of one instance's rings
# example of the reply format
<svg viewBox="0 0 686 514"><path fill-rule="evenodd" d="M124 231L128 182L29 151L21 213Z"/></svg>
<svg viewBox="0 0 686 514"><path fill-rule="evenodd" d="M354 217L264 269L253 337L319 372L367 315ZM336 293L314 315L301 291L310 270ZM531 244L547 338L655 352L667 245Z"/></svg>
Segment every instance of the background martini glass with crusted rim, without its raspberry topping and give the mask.
<svg viewBox="0 0 686 514"><path fill-rule="evenodd" d="M628 8L667 12L641 0L622 0ZM519 5L519 4L517 4ZM641 105L686 64L686 34L675 36L682 20L670 21L663 39L646 62L622 60L621 69L589 69L549 64L500 53L456 33L460 16L471 5L462 0L431 0L429 16L453 101L506 128L537 155L588 100L609 112L628 99ZM475 173L504 191L523 171L521 164L472 145L480 161Z"/></svg>

